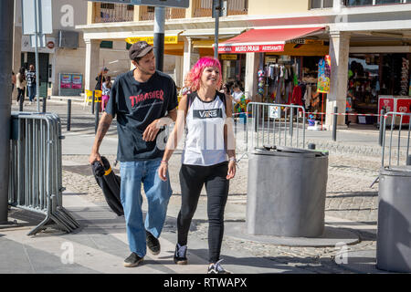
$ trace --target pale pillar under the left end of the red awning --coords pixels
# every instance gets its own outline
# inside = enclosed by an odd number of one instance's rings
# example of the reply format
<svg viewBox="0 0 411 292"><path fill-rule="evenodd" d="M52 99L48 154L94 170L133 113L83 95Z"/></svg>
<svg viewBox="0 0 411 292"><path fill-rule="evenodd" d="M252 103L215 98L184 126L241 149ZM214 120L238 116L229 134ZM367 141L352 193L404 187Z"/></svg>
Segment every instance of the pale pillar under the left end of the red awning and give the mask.
<svg viewBox="0 0 411 292"><path fill-rule="evenodd" d="M247 53L246 54L246 80L244 82L244 91L246 96L251 98L252 101L260 101L257 94L257 72L259 68L260 54L259 53Z"/></svg>

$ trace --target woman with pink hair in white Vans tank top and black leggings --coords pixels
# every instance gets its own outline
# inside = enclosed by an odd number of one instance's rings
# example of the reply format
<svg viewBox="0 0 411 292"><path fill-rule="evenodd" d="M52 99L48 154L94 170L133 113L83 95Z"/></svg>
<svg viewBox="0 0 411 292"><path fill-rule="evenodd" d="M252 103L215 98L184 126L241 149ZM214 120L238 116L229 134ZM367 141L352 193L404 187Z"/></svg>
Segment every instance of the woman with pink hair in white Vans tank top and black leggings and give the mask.
<svg viewBox="0 0 411 292"><path fill-rule="evenodd" d="M236 175L236 147L232 128L232 101L221 87L221 65L213 57L202 57L191 69L187 85L192 93L180 101L174 130L167 141L158 170L165 181L168 161L186 129L180 184L182 206L177 218L178 242L174 263L187 264L187 237L203 185L207 193L208 274L229 274L221 265L224 209L229 180Z"/></svg>

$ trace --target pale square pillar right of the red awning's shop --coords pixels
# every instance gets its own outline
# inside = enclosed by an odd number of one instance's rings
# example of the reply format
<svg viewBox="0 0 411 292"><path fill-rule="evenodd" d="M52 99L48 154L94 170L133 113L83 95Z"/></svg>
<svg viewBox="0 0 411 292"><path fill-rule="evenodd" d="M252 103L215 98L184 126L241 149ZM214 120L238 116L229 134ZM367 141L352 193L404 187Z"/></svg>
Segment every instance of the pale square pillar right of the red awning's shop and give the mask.
<svg viewBox="0 0 411 292"><path fill-rule="evenodd" d="M331 87L327 97L326 112L331 113L335 106L338 112L345 112L348 83L348 57L350 51L350 35L346 32L330 32ZM332 115L326 115L325 126L332 130ZM338 126L345 126L345 116L338 116Z"/></svg>

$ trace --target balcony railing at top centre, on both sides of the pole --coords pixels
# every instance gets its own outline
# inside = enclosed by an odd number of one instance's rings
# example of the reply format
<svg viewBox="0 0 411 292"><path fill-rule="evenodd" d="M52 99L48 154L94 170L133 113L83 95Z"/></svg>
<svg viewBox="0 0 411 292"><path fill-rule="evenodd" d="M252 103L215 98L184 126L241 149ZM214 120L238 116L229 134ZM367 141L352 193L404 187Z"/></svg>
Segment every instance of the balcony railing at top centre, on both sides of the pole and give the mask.
<svg viewBox="0 0 411 292"><path fill-rule="evenodd" d="M248 0L227 0L227 16L247 15ZM194 0L195 17L211 17L213 0Z"/></svg>

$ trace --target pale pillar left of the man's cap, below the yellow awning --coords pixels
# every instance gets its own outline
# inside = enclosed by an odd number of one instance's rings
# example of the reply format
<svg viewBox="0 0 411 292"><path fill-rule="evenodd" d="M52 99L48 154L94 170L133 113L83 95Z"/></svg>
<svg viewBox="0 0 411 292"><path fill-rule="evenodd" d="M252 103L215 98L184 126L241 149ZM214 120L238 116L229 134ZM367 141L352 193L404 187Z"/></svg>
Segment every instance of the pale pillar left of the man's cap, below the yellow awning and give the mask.
<svg viewBox="0 0 411 292"><path fill-rule="evenodd" d="M86 43L86 70L85 89L93 90L97 81L96 77L100 72L100 40L85 39Z"/></svg>

